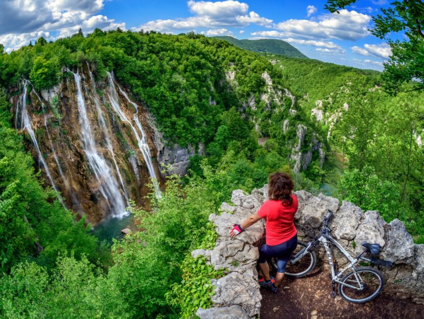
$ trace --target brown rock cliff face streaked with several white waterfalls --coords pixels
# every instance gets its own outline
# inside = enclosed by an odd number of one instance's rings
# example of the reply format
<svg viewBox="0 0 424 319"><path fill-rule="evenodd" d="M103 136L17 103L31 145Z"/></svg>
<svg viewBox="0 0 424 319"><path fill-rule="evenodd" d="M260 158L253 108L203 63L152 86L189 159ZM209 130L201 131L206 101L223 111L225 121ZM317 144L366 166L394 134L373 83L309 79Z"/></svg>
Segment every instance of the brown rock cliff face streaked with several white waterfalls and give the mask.
<svg viewBox="0 0 424 319"><path fill-rule="evenodd" d="M184 174L194 150L169 146L148 110L131 99L113 73L98 80L89 64L62 72L64 80L48 90L37 91L26 79L10 90L14 126L45 184L93 224L127 214L130 199L148 209L146 184L156 179L160 192L158 163Z"/></svg>

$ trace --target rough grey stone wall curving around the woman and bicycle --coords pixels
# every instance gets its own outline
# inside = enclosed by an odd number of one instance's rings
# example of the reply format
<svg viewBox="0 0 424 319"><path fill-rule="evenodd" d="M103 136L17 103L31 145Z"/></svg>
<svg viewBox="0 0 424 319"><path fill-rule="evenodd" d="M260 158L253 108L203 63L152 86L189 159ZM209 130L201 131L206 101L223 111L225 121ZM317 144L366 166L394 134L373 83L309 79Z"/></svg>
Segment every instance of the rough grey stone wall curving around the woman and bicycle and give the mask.
<svg viewBox="0 0 424 319"><path fill-rule="evenodd" d="M222 203L220 215L211 214L218 240L213 250L196 250L192 256L203 255L216 269L228 269L226 276L213 280L215 295L211 297L214 306L199 308L201 319L223 318L251 319L260 313L261 292L257 284L256 260L259 256L255 243L264 233L264 223L258 222L237 237L229 237L230 226L241 223L255 213L267 199L268 187L254 189L251 194L242 190L232 192L234 206ZM384 222L378 211L363 212L358 206L326 197L312 195L304 190L296 192L299 209L295 224L301 239L311 240L319 233L327 209L335 212L329 226L332 236L351 254L362 251L361 242L378 242L383 247L379 257L390 260L393 266L382 269L386 280L384 291L398 298L410 298L424 304L424 245L414 244L405 225L398 219L389 224ZM333 250L338 265L346 263L343 256ZM319 258L324 258L318 253ZM305 279L307 280L307 279ZM330 289L330 288L329 288ZM329 291L328 291L329 292Z"/></svg>

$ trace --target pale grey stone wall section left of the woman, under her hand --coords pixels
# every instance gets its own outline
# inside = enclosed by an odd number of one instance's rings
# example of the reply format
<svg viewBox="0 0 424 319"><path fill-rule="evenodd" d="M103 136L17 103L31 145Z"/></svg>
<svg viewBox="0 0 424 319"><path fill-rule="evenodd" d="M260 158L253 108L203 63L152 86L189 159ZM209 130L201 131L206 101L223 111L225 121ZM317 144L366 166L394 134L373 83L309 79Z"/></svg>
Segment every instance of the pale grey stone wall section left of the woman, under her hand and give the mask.
<svg viewBox="0 0 424 319"><path fill-rule="evenodd" d="M249 227L237 237L229 237L233 224L240 224L250 214L255 213L265 201L258 190L246 194L238 189L232 192L231 201L221 205L220 215L211 214L209 220L214 223L218 241L213 250L196 250L192 256L205 256L215 269L227 269L226 276L213 280L215 295L211 297L214 307L201 309L197 315L207 318L244 318L250 319L260 313L261 293L257 284L256 261L259 252L253 244L264 234L264 223Z"/></svg>

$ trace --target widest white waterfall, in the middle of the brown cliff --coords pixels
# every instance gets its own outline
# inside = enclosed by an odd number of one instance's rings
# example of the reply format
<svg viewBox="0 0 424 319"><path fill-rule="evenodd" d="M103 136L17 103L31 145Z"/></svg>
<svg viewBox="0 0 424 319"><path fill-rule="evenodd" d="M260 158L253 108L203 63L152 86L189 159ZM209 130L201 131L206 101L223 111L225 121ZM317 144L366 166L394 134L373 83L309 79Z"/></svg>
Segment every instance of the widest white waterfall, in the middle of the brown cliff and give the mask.
<svg viewBox="0 0 424 319"><path fill-rule="evenodd" d="M78 118L81 127L81 141L88 164L96 177L100 193L105 198L110 211L115 217L127 215L119 185L113 178L112 170L108 166L104 157L97 152L95 138L91 131L90 122L87 116L84 97L81 88L81 77L73 72L75 86L77 89Z"/></svg>

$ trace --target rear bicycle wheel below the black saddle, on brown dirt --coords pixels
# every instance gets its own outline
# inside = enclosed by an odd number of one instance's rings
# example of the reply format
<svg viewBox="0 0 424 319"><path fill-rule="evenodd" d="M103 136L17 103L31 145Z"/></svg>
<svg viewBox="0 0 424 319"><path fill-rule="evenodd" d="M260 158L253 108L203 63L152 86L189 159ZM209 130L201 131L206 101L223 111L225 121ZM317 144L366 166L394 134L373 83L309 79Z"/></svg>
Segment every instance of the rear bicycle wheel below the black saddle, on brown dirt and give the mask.
<svg viewBox="0 0 424 319"><path fill-rule="evenodd" d="M339 283L339 293L343 299L362 304L379 296L384 286L384 278L378 269L359 267L356 268L356 275L349 272L340 280L342 283Z"/></svg>

